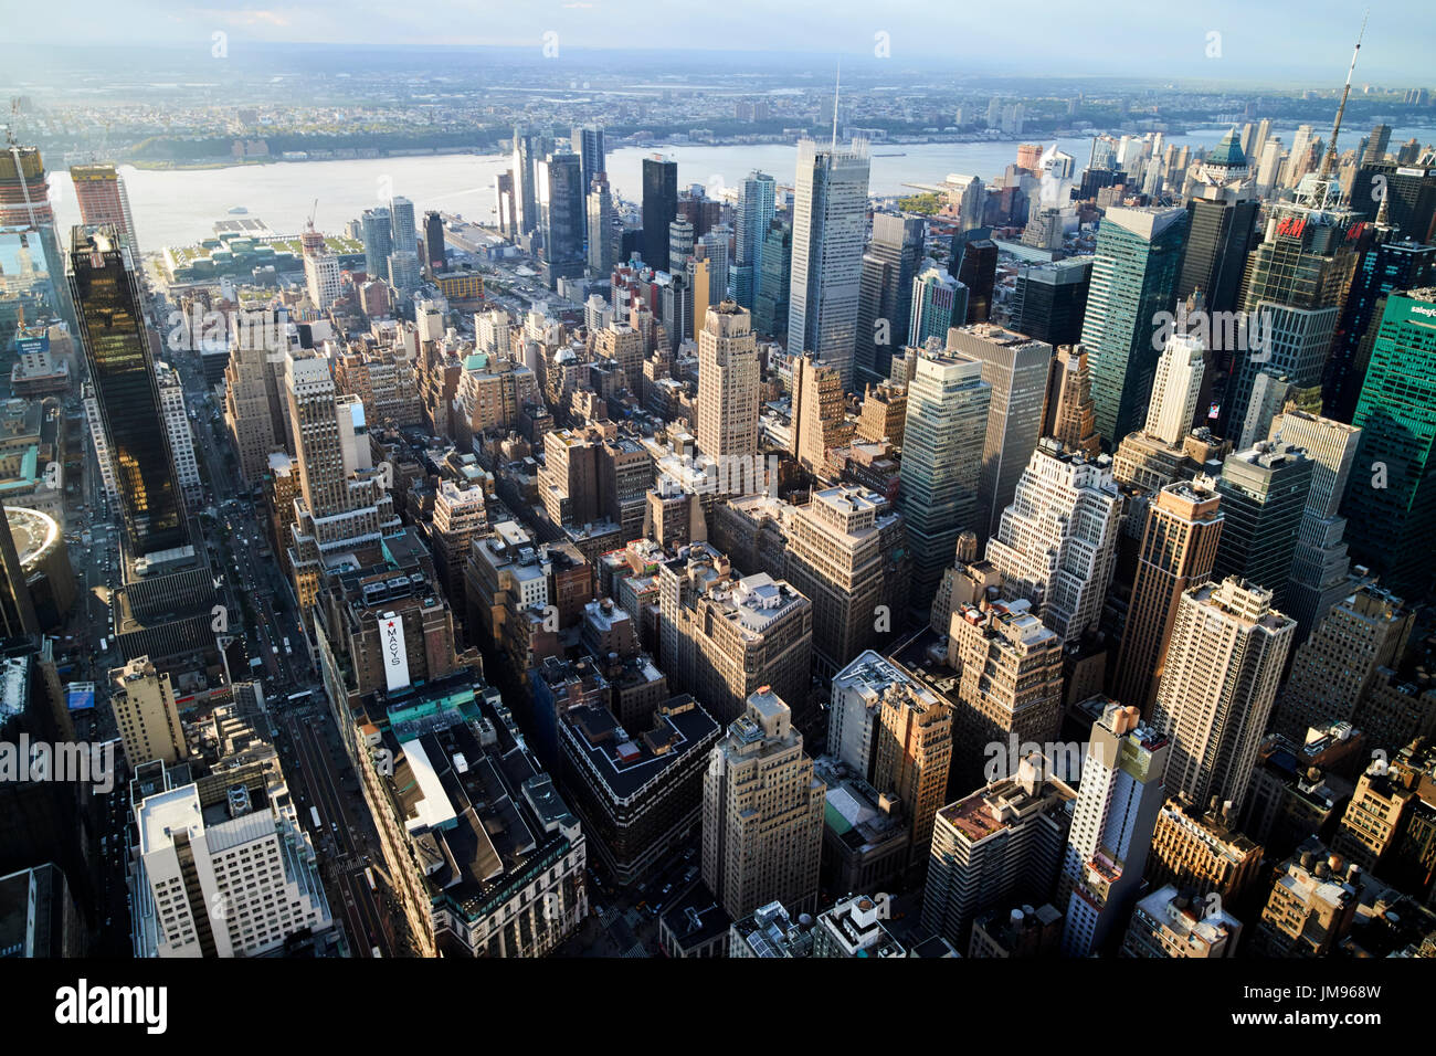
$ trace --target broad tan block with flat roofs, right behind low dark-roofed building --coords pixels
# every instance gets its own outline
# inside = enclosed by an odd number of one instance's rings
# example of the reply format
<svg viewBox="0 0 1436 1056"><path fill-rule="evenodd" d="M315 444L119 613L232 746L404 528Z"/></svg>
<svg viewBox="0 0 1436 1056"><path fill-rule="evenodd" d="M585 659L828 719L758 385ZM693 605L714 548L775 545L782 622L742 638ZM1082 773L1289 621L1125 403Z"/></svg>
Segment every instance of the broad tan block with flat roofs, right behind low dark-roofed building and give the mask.
<svg viewBox="0 0 1436 1056"><path fill-rule="evenodd" d="M758 690L781 690L806 720L813 603L767 572L738 578L707 543L658 569L663 671L731 723Z"/></svg>

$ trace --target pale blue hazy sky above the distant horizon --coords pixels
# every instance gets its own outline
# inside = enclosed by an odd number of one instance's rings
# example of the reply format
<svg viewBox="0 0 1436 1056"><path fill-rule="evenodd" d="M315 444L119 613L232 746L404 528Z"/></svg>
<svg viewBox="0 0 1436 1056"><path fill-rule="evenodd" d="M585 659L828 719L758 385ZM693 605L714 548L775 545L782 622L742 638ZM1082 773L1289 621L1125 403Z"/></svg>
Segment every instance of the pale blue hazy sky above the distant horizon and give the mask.
<svg viewBox="0 0 1436 1056"><path fill-rule="evenodd" d="M195 46L549 45L814 52L850 63L945 60L1012 75L1340 85L1361 24L1350 0L50 0L0 27L27 43ZM546 36L553 34L553 36ZM1371 9L1356 83L1427 85L1436 3ZM886 55L883 53L886 52Z"/></svg>

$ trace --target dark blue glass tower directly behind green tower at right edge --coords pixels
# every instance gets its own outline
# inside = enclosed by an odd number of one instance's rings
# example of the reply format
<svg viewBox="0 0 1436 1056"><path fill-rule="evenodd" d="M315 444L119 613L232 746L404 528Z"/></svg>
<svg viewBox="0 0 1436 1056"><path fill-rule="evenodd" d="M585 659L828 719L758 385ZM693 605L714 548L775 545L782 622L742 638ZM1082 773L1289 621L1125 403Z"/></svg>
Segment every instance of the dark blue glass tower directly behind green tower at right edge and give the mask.
<svg viewBox="0 0 1436 1056"><path fill-rule="evenodd" d="M1335 342L1321 375L1321 405L1327 417L1351 421L1381 312L1393 290L1419 290L1436 282L1436 246L1422 246L1396 228L1377 224L1373 243L1361 254L1347 295Z"/></svg>

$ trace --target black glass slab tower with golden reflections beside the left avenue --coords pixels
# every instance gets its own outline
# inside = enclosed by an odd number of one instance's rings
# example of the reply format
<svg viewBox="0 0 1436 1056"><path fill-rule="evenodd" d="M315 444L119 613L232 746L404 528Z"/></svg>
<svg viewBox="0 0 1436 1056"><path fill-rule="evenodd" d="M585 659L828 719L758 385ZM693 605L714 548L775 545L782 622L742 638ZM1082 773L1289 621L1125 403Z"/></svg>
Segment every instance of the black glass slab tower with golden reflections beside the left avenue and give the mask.
<svg viewBox="0 0 1436 1056"><path fill-rule="evenodd" d="M116 470L128 550L141 557L185 546L190 533L169 437L158 428L154 343L131 253L112 227L75 228L70 287Z"/></svg>

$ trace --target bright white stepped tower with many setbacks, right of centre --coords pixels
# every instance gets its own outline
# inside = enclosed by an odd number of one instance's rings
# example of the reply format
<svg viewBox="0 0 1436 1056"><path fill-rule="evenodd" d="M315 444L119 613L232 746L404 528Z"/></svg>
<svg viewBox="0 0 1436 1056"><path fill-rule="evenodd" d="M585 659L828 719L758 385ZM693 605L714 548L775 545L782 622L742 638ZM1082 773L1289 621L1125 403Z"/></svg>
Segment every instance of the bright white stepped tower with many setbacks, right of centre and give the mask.
<svg viewBox="0 0 1436 1056"><path fill-rule="evenodd" d="M1122 499L1111 461L1043 440L1002 511L987 559L1064 642L1097 626L1117 559Z"/></svg>

